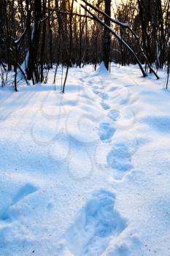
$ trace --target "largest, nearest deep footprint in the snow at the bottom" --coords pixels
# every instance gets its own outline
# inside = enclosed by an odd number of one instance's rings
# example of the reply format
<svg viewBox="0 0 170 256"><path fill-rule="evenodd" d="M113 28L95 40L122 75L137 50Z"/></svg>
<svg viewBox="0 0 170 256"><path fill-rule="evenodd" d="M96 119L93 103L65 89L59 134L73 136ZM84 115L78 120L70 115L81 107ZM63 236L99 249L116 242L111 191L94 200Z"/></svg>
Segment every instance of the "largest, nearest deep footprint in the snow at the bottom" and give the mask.
<svg viewBox="0 0 170 256"><path fill-rule="evenodd" d="M96 192L66 232L64 249L69 249L74 256L101 255L110 239L127 227L114 206L114 194L105 190Z"/></svg>

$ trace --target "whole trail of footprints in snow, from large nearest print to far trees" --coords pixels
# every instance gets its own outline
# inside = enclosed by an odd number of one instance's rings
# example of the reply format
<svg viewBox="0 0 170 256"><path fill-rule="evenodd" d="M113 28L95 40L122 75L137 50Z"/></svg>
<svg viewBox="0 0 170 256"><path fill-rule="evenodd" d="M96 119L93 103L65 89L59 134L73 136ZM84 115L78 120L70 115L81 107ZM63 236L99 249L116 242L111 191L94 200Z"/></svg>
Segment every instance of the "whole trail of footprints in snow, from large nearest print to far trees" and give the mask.
<svg viewBox="0 0 170 256"><path fill-rule="evenodd" d="M102 143L112 143L116 132L114 122L120 118L120 112L115 109L110 110L109 104L105 102L109 96L100 89L102 88L98 86L93 87L93 94L101 98L101 107L108 110L107 116L111 121L101 122L98 128L99 138ZM121 180L125 173L133 168L131 153L125 143L113 144L112 150L107 155L107 165L112 168L117 180ZM59 255L102 255L109 241L120 236L127 226L127 221L115 210L115 194L100 190L93 194L66 231ZM117 253L117 256L120 254ZM128 255L128 249L124 248L123 255Z"/></svg>

